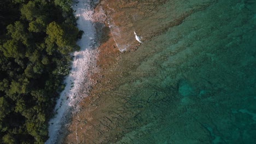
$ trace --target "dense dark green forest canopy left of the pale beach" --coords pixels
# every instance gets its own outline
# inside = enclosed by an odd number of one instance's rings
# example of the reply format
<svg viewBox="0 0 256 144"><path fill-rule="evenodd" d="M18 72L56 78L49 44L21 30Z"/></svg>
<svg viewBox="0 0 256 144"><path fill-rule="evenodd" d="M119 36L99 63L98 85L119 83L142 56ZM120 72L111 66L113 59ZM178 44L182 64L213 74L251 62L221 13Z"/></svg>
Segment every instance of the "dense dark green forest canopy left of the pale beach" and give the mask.
<svg viewBox="0 0 256 144"><path fill-rule="evenodd" d="M72 0L0 1L0 143L44 143L82 35Z"/></svg>

